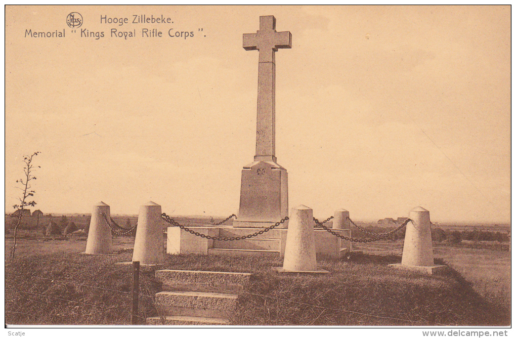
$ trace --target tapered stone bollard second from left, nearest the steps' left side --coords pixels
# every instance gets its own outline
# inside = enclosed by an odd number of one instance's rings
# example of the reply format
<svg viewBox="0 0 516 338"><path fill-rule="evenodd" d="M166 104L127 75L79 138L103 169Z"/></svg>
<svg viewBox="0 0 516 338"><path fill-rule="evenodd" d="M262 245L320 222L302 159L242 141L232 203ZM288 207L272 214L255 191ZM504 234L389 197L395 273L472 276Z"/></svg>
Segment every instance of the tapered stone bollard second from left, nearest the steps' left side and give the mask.
<svg viewBox="0 0 516 338"><path fill-rule="evenodd" d="M140 207L138 227L134 240L133 262L140 264L163 264L165 250L161 225L161 206L148 202Z"/></svg>

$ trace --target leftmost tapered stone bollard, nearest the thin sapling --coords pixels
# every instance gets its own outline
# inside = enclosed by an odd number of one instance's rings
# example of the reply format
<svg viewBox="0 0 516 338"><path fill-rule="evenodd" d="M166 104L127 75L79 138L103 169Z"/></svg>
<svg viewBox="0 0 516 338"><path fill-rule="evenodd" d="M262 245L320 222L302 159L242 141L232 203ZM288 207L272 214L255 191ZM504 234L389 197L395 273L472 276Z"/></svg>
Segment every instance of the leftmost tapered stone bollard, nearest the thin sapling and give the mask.
<svg viewBox="0 0 516 338"><path fill-rule="evenodd" d="M93 205L88 240L84 252L86 254L108 254L112 251L111 228L109 228L102 213L106 214L107 219L109 219L109 205L104 202Z"/></svg>

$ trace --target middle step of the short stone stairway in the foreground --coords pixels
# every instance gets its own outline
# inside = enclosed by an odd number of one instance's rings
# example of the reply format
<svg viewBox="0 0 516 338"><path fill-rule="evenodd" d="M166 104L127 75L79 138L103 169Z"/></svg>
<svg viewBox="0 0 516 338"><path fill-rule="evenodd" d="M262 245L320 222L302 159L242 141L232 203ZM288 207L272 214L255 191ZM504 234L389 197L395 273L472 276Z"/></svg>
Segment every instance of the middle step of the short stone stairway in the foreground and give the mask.
<svg viewBox="0 0 516 338"><path fill-rule="evenodd" d="M220 311L235 311L237 298L237 295L192 291L162 291L156 294L156 302L163 308L199 308Z"/></svg>

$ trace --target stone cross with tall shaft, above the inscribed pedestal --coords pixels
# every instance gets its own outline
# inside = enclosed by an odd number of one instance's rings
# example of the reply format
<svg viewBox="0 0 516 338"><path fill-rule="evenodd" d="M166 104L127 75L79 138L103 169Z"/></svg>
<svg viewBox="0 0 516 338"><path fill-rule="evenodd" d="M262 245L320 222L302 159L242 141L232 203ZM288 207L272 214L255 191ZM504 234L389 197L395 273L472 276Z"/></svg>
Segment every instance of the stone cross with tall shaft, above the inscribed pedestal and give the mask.
<svg viewBox="0 0 516 338"><path fill-rule="evenodd" d="M259 50L255 161L276 162L276 58L279 48L292 47L289 31L276 31L276 18L260 17L260 30L244 34L244 49Z"/></svg>

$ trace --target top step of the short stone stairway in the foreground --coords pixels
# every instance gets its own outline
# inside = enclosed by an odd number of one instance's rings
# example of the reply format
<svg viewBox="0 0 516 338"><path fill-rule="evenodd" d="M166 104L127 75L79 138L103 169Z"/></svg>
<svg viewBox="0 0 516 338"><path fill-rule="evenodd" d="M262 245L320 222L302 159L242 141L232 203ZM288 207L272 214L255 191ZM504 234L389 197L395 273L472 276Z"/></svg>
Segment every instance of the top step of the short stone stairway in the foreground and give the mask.
<svg viewBox="0 0 516 338"><path fill-rule="evenodd" d="M240 293L249 283L250 273L191 270L157 270L164 290Z"/></svg>

